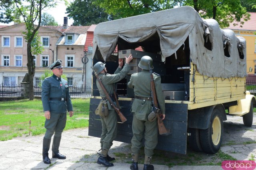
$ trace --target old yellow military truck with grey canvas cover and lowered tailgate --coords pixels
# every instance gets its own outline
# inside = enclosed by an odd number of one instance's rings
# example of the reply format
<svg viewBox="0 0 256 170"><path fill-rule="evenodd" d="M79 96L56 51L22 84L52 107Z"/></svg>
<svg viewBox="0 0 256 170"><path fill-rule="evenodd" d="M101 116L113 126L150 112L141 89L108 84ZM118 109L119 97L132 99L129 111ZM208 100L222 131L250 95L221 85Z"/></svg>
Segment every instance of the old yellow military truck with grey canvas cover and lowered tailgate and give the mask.
<svg viewBox="0 0 256 170"><path fill-rule="evenodd" d="M156 149L186 154L187 146L214 154L223 138L227 115L242 117L252 126L254 95L246 91L246 41L214 19L202 19L190 6L162 10L98 24L94 30L93 63L106 63L108 72L118 58L132 54L131 70L117 83L121 112L116 141L131 143L133 89L130 74L139 72L142 56L153 59L165 97L164 125ZM250 68L251 71L251 68ZM142 82L143 83L143 82ZM94 113L101 98L92 75L89 136L100 137L101 121Z"/></svg>

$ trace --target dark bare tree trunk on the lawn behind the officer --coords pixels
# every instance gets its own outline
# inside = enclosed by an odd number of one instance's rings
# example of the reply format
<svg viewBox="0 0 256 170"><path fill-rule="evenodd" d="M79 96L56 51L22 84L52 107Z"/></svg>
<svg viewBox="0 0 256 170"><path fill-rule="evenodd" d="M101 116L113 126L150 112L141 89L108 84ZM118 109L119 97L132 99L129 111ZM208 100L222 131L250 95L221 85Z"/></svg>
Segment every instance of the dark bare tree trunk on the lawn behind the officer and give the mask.
<svg viewBox="0 0 256 170"><path fill-rule="evenodd" d="M27 56L28 56L28 86L29 86L29 100L34 100L34 75L35 75L35 66L34 66L34 57L31 54L31 44L27 44Z"/></svg>

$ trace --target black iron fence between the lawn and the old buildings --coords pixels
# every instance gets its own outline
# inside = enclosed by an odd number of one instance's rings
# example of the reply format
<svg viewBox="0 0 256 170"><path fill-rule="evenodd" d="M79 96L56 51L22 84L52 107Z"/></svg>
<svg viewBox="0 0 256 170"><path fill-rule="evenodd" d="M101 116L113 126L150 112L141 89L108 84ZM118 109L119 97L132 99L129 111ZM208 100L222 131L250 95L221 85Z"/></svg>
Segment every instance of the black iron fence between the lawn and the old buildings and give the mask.
<svg viewBox="0 0 256 170"><path fill-rule="evenodd" d="M41 97L42 89L38 86L34 86L34 96ZM74 85L69 87L71 98L88 98L91 97L92 89L90 86ZM0 98L4 97L21 97L22 86L21 84L6 86L0 85Z"/></svg>

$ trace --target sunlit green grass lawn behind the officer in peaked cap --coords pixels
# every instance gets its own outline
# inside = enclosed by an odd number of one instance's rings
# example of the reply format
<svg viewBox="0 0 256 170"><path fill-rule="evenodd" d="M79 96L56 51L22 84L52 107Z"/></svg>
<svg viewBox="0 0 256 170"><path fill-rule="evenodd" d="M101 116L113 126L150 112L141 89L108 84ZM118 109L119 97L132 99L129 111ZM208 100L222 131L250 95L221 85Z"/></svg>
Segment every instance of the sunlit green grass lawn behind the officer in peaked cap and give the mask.
<svg viewBox="0 0 256 170"><path fill-rule="evenodd" d="M67 113L67 123L64 130L88 127L90 98L72 99L74 115ZM31 124L29 126L29 122ZM22 135L44 134L44 111L42 101L38 99L0 102L0 140L10 140Z"/></svg>

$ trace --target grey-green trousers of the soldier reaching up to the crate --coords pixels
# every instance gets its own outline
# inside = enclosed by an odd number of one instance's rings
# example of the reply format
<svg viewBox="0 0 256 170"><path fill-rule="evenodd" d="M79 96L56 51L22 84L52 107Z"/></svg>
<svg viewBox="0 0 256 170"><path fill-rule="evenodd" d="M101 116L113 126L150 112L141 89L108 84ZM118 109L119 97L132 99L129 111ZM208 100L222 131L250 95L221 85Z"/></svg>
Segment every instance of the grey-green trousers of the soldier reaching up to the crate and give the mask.
<svg viewBox="0 0 256 170"><path fill-rule="evenodd" d="M104 149L110 149L113 145L113 140L117 134L117 114L115 110L108 110L109 115L106 118L101 118L102 134L100 136L100 146Z"/></svg>

